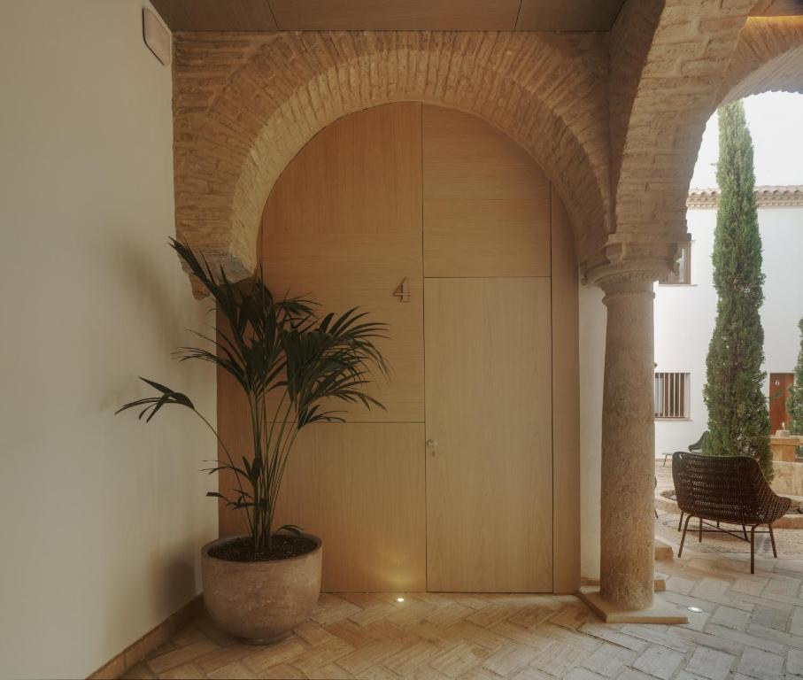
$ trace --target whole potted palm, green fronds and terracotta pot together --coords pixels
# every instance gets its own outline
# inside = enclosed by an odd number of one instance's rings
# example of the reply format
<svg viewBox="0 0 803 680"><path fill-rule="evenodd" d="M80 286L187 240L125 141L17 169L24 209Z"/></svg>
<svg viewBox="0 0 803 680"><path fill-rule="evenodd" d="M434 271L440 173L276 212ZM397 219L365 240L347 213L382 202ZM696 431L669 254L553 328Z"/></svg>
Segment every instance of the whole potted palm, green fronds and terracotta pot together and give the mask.
<svg viewBox="0 0 803 680"><path fill-rule="evenodd" d="M189 397L142 378L156 394L120 411L140 408L151 421L163 406L188 408L218 441L210 474L227 471L228 491L207 496L242 512L248 534L221 538L201 553L205 606L220 628L254 644L290 633L312 613L320 593L321 544L296 526L274 527L282 476L297 434L316 422L342 421L337 400L382 407L367 393L374 370L388 375L374 341L386 325L356 308L320 318L301 298L276 300L261 274L232 283L203 264L185 243L171 245L209 293L223 320L213 334L195 332L207 348L182 347L179 359L209 361L231 375L246 397L251 456L235 456Z"/></svg>

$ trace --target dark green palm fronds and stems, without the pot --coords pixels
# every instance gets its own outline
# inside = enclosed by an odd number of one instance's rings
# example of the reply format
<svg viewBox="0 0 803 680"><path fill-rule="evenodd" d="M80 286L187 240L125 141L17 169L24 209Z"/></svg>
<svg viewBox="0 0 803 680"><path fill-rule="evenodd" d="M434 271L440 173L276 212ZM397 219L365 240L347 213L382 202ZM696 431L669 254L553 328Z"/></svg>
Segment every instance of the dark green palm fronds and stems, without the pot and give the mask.
<svg viewBox="0 0 803 680"><path fill-rule="evenodd" d="M191 331L205 346L183 346L174 355L181 361L211 363L234 377L251 416L252 457L240 456L242 462L235 463L217 430L189 398L155 381L143 378L157 395L129 402L117 413L137 407L139 417L151 421L170 404L196 413L225 453L225 460L212 461L205 472L230 473L236 487L229 493L207 495L243 510L254 549L259 551L270 544L275 503L297 432L316 422L344 421L344 412L331 408L335 402L384 408L371 387L375 373L385 379L390 376L378 346L390 340L388 326L372 321L359 307L319 318L318 305L309 299L274 298L261 268L246 281L231 282L222 267L213 270L188 243L171 239L170 245L209 293L217 313L216 323L210 325L212 334ZM275 392L279 406L267 398Z"/></svg>

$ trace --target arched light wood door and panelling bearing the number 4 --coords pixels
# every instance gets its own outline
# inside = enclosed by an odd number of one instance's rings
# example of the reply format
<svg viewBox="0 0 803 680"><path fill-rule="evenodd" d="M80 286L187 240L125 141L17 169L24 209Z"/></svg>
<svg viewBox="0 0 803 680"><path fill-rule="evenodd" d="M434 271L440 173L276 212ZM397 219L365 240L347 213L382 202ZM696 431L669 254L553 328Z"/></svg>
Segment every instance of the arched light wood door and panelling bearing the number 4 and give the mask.
<svg viewBox="0 0 803 680"><path fill-rule="evenodd" d="M575 411L560 415L557 467L552 445L555 332L561 380L576 381L576 272L562 205L534 161L466 113L352 114L282 174L259 255L274 294L390 323L394 375L376 392L386 410L349 408L348 422L305 430L282 491L278 521L324 540L324 590L576 588L553 578L558 561L579 559L579 526L553 513L557 500L575 516L576 386L561 397ZM219 424L236 437L232 391L221 381ZM558 472L568 485L553 494ZM235 530L221 511L221 533Z"/></svg>

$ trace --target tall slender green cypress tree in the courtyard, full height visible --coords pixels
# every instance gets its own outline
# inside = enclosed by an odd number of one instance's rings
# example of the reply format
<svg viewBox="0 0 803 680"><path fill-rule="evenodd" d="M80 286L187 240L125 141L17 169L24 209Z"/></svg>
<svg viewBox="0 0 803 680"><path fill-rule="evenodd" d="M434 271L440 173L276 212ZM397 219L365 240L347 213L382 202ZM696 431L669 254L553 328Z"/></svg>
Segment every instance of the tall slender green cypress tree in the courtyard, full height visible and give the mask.
<svg viewBox="0 0 803 680"><path fill-rule="evenodd" d="M741 102L718 112L720 188L714 231L714 288L719 300L706 357L703 398L708 407L705 452L753 456L772 479L765 373L761 235L755 206L753 140Z"/></svg>

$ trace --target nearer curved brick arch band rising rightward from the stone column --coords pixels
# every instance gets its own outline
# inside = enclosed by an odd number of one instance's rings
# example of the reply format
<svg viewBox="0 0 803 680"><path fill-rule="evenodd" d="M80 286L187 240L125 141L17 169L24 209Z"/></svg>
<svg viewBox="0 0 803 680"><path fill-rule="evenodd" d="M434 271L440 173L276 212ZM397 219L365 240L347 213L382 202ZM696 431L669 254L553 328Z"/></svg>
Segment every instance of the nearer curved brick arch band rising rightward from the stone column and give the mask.
<svg viewBox="0 0 803 680"><path fill-rule="evenodd" d="M628 251L628 256L670 262L677 243L686 240L685 202L699 143L753 4L667 0L622 13L654 30L643 53L633 56L640 59L629 69L637 73L637 86L619 121L615 236L609 242L619 246L617 256ZM609 257L602 252L598 259Z"/></svg>

